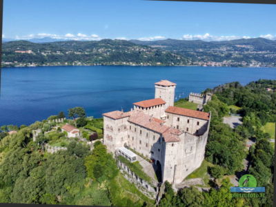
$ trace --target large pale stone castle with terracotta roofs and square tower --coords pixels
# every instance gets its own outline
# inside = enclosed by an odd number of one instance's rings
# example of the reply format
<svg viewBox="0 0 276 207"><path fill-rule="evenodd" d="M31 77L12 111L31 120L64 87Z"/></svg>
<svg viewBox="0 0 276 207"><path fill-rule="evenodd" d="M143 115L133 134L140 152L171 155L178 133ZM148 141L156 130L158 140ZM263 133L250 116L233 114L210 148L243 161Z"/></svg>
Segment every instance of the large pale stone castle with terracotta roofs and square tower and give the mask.
<svg viewBox="0 0 276 207"><path fill-rule="evenodd" d="M155 99L128 112L103 113L103 144L111 152L131 148L151 159L160 181L178 184L204 160L210 113L174 106L176 83L155 83Z"/></svg>

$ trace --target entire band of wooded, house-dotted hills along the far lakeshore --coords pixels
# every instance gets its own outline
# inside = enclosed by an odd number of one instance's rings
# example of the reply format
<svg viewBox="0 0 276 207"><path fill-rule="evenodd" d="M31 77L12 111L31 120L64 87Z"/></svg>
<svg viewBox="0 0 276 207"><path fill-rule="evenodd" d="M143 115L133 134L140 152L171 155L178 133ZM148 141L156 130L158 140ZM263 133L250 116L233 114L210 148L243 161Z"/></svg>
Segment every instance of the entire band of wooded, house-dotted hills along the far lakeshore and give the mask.
<svg viewBox="0 0 276 207"><path fill-rule="evenodd" d="M29 52L26 52L30 50ZM18 51L23 51L18 52ZM165 39L159 41L8 41L2 66L235 66L275 67L276 41Z"/></svg>

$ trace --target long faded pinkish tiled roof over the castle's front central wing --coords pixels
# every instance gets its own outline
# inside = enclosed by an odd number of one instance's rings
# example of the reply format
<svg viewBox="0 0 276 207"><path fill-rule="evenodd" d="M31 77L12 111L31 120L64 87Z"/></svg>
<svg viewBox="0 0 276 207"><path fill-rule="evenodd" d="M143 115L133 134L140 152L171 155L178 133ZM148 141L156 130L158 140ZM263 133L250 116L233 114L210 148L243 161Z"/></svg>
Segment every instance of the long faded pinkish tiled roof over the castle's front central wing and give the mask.
<svg viewBox="0 0 276 207"><path fill-rule="evenodd" d="M182 132L175 128L164 125L164 121L145 115L144 112L136 111L128 119L133 124L137 124L149 130L160 133L166 142L180 141L178 135Z"/></svg>

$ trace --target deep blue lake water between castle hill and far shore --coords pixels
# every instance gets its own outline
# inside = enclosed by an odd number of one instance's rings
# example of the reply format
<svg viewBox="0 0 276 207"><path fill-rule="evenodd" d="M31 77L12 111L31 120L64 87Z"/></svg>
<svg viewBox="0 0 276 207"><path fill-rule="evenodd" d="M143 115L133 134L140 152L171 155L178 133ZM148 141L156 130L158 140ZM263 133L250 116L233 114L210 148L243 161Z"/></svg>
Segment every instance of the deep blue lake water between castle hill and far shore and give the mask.
<svg viewBox="0 0 276 207"><path fill-rule="evenodd" d="M2 68L0 126L32 124L68 108L82 106L90 116L130 110L132 103L154 98L154 83L177 83L176 95L201 92L222 83L243 85L276 79L276 68L54 66ZM183 96L182 96L183 97Z"/></svg>

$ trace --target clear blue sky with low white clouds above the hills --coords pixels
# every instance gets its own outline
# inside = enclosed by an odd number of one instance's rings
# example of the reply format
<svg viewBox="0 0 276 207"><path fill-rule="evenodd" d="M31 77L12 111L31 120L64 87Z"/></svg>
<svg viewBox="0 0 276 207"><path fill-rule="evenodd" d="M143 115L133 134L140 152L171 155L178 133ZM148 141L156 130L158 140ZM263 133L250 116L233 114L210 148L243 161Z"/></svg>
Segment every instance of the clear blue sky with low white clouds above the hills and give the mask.
<svg viewBox="0 0 276 207"><path fill-rule="evenodd" d="M5 0L5 39L276 39L276 5L144 0Z"/></svg>

